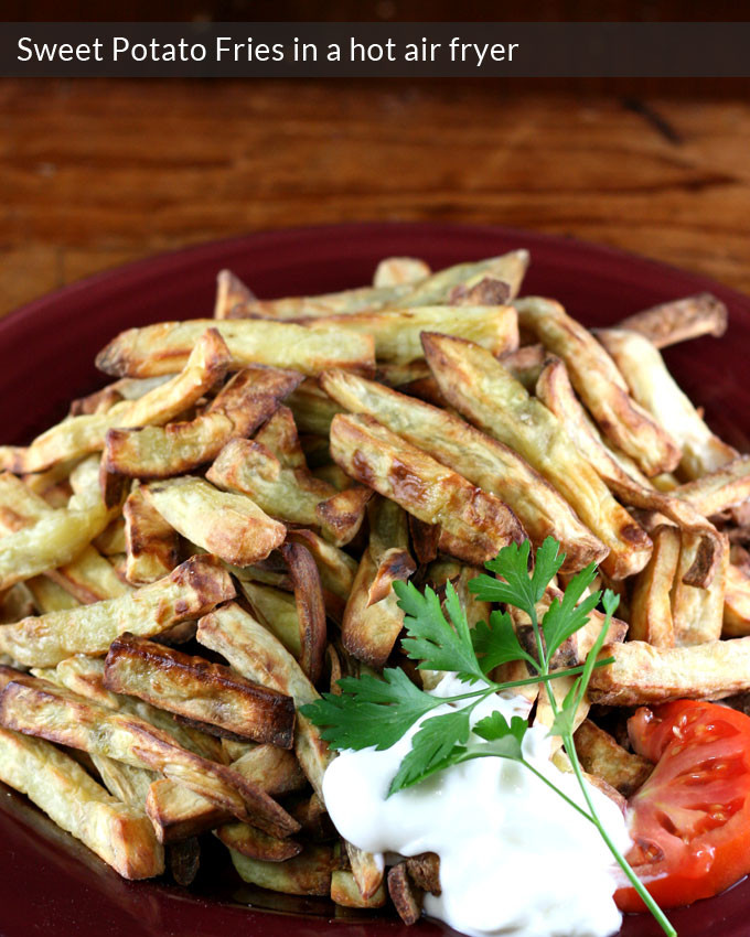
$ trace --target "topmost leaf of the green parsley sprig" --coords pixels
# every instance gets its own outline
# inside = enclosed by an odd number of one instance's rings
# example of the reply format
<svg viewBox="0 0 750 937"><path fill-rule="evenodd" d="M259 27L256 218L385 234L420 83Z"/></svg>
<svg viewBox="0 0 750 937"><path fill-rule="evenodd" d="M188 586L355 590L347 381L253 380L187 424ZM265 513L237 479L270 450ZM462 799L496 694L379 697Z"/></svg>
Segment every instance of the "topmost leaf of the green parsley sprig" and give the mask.
<svg viewBox="0 0 750 937"><path fill-rule="evenodd" d="M482 574L469 583L469 589L483 602L504 602L515 605L532 617L534 606L542 599L553 577L565 562L565 553L559 552L559 543L547 537L536 551L534 571L528 573L531 543L510 543L497 553L494 560L484 566L502 577L502 580Z"/></svg>

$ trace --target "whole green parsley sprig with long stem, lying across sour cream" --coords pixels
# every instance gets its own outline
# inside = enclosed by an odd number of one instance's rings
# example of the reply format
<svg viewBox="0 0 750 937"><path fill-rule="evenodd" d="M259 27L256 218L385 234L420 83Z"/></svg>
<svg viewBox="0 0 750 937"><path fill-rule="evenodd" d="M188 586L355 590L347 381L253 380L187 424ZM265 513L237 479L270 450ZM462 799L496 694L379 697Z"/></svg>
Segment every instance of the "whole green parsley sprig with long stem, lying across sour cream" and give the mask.
<svg viewBox="0 0 750 937"><path fill-rule="evenodd" d="M421 720L419 729L411 736L411 747L390 783L388 796L450 765L473 758L501 757L519 762L597 827L665 934L676 937L675 929L599 819L572 739L576 712L593 669L613 660L611 657L599 660L598 657L619 599L609 589L603 593L597 590L586 594L597 573L596 566L591 563L570 580L561 597L553 599L539 621L538 605L562 566L565 553L560 553L559 545L548 537L536 552L531 573L529 554L528 541L503 548L494 560L485 564L495 575L482 574L472 580L469 588L483 602L512 605L525 613L531 622L536 656L522 646L506 610L495 610L490 614L489 622L479 622L470 627L450 582L446 585L444 602L441 604L437 593L429 586L422 594L414 583L396 581L394 590L404 611L407 634L401 643L405 653L417 661L418 669L452 671L470 689L452 697L437 697L413 683L400 668L386 668L382 679L372 675L344 677L339 680L341 694L323 693L322 699L302 707L300 711L322 728L322 737L336 750L389 748ZM555 651L587 624L591 612L599 604L604 610L604 621L586 661L577 667L553 669L550 663ZM506 682L496 682L491 678L496 667L516 660L524 661L533 676ZM561 703L551 687L551 681L560 677L575 677ZM494 693L531 683L540 683L546 688L554 717L550 734L559 735L562 740L583 795L585 807L570 799L525 758L523 741L529 728L525 719L514 717L508 722L502 713L494 711L473 726L471 724L471 715L483 700ZM444 708L446 703L450 704L448 712L429 715L438 707Z"/></svg>

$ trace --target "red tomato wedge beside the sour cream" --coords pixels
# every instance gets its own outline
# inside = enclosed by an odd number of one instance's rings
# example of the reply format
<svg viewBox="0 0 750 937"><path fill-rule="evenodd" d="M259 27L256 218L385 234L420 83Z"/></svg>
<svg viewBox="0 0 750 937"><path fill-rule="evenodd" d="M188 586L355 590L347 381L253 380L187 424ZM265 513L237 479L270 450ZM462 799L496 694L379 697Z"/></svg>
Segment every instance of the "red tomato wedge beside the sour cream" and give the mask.
<svg viewBox="0 0 750 937"><path fill-rule="evenodd" d="M716 895L750 872L750 718L679 700L639 709L628 731L656 762L629 804L628 861L662 907ZM621 911L644 911L632 887Z"/></svg>

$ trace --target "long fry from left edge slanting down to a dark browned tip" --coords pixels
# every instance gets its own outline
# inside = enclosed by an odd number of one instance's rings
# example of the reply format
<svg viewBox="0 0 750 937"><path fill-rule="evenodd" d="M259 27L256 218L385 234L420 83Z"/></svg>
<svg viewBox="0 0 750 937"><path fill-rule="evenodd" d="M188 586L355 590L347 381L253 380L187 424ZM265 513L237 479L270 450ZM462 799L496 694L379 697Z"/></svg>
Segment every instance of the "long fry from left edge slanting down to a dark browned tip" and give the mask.
<svg viewBox="0 0 750 937"><path fill-rule="evenodd" d="M180 747L136 715L113 712L45 680L9 683L0 696L0 723L135 767L158 771L265 832L299 827L278 804L237 772Z"/></svg>

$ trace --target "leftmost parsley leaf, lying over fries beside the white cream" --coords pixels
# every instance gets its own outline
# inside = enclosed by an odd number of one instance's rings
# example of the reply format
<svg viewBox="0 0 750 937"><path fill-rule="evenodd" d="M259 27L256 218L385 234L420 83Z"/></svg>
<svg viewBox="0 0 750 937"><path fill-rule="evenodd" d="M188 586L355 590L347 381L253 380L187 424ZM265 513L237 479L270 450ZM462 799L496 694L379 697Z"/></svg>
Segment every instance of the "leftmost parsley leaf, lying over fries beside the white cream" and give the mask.
<svg viewBox="0 0 750 937"><path fill-rule="evenodd" d="M387 668L383 679L369 674L339 680L341 696L323 693L300 712L323 728L321 737L332 748L389 748L417 720L442 700L416 687L400 668Z"/></svg>

